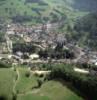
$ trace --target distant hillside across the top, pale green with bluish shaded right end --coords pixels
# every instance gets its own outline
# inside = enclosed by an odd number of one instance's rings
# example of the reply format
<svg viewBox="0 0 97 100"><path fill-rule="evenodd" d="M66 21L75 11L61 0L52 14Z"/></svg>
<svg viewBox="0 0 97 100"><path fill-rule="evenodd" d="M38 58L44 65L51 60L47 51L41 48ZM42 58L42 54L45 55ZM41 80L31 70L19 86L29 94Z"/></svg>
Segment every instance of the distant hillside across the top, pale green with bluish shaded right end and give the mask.
<svg viewBox="0 0 97 100"><path fill-rule="evenodd" d="M91 2L94 6L91 7ZM81 4L81 5L80 5ZM72 19L96 11L96 0L0 0L0 19L43 23Z"/></svg>

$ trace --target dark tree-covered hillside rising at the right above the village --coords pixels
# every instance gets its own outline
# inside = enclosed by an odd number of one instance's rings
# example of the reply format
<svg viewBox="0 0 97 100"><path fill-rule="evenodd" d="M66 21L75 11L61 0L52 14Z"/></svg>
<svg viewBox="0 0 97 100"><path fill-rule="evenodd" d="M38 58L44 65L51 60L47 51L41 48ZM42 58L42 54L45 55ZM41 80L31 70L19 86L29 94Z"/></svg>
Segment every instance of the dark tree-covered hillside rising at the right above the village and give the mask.
<svg viewBox="0 0 97 100"><path fill-rule="evenodd" d="M74 25L76 31L73 39L81 45L87 45L92 49L97 48L97 14L92 13L79 19Z"/></svg>

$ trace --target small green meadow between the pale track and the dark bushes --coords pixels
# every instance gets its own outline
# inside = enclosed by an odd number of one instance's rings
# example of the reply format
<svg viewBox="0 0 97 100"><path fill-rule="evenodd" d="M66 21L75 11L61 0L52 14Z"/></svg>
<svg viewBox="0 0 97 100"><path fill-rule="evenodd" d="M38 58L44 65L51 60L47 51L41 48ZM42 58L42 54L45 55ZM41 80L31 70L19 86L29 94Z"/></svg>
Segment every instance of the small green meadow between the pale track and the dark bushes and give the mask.
<svg viewBox="0 0 97 100"><path fill-rule="evenodd" d="M16 85L16 91L19 93L30 91L34 86L37 86L37 77L32 74L27 77L26 73L28 73L27 68L19 68L19 79Z"/></svg>

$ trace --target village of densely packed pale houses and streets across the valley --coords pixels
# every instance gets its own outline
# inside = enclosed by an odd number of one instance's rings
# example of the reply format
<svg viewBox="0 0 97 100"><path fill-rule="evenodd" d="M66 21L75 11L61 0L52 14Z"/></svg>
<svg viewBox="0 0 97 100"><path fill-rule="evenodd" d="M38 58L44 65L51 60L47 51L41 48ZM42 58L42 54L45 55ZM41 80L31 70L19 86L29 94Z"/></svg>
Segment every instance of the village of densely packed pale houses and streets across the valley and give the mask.
<svg viewBox="0 0 97 100"><path fill-rule="evenodd" d="M41 59L40 55L36 52L23 53L17 50L13 53L13 43L21 42L25 44L32 43L38 50L46 50L47 48L55 49L57 43L63 44L63 48L70 50L74 53L73 59L60 58L52 59L52 62L65 62L65 63L87 63L97 65L97 52L89 50L89 48L81 48L76 43L67 42L65 35L62 33L54 32L59 27L58 23L47 23L35 26L27 26L20 24L8 24L6 26L5 42L2 42L0 49L0 60L17 64L30 64L30 63L47 63L50 59ZM16 40L15 40L16 38ZM27 59L22 57L26 55Z"/></svg>

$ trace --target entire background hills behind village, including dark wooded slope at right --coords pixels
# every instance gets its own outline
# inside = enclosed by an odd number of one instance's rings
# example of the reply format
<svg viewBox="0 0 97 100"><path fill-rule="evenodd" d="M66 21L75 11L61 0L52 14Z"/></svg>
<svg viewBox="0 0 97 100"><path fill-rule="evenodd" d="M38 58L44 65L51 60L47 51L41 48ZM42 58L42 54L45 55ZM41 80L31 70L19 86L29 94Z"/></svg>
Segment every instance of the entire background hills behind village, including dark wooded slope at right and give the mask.
<svg viewBox="0 0 97 100"><path fill-rule="evenodd" d="M77 40L81 45L87 45L89 39L90 47L96 46L93 31L96 30L97 17L92 16L96 12L97 0L0 0L0 23L62 22L58 31L67 33L70 40ZM92 17L87 17L90 15ZM90 28L92 25L95 29ZM88 30L82 32L86 27Z"/></svg>

